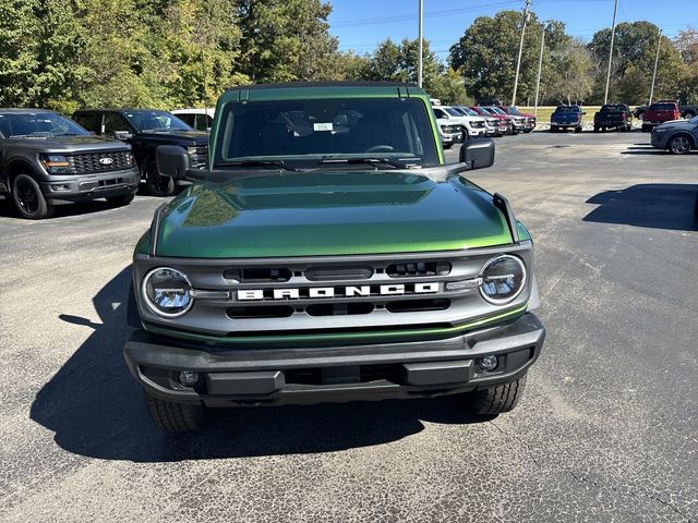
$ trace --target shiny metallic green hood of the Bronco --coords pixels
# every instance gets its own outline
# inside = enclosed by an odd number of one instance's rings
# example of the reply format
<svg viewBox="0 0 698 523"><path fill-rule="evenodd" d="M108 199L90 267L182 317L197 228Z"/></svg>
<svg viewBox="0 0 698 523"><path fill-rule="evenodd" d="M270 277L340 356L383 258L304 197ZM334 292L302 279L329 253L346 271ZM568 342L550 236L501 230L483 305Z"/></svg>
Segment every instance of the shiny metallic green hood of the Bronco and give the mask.
<svg viewBox="0 0 698 523"><path fill-rule="evenodd" d="M164 214L158 256L265 258L450 251L512 242L492 196L411 172L274 173L198 183Z"/></svg>

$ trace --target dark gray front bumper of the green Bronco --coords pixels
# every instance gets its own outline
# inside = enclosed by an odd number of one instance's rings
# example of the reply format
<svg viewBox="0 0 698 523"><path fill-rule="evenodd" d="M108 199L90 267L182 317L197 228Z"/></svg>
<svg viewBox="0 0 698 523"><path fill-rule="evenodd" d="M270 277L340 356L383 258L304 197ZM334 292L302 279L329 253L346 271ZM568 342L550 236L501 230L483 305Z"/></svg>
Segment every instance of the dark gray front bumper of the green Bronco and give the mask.
<svg viewBox="0 0 698 523"><path fill-rule="evenodd" d="M527 313L454 338L365 345L218 349L135 330L123 353L131 374L158 398L207 406L310 404L432 397L512 381L538 358L545 329ZM478 366L496 355L494 372ZM180 370L198 373L193 388Z"/></svg>

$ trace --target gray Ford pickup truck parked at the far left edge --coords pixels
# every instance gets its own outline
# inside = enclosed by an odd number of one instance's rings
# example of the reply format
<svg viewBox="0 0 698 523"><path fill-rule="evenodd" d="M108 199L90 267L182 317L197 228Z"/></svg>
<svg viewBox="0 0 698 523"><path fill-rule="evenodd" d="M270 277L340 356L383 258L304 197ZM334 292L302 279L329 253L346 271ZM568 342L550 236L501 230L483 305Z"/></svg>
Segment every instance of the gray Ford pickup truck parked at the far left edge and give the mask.
<svg viewBox="0 0 698 523"><path fill-rule="evenodd" d="M131 146L93 136L44 109L0 109L0 199L38 220L58 202L107 198L128 205L139 188Z"/></svg>

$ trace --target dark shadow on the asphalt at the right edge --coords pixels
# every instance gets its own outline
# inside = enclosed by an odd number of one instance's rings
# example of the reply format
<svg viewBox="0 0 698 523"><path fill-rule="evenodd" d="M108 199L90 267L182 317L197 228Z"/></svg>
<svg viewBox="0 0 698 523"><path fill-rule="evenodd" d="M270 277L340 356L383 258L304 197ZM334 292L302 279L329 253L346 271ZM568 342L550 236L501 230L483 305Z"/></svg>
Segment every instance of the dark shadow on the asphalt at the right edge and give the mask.
<svg viewBox="0 0 698 523"><path fill-rule="evenodd" d="M643 183L604 191L589 198L598 205L583 221L677 231L698 230L698 185Z"/></svg>

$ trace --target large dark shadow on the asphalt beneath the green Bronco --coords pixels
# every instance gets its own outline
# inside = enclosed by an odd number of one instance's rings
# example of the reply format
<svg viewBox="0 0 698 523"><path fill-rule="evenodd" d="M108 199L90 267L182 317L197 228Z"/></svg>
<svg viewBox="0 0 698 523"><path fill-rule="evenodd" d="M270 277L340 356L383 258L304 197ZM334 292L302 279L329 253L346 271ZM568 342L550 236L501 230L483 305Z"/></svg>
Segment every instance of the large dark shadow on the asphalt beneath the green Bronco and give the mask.
<svg viewBox="0 0 698 523"><path fill-rule="evenodd" d="M198 433L167 435L147 415L122 356L130 282L127 267L93 299L100 324L60 315L94 332L36 394L31 417L69 452L134 462L332 452L405 438L421 431L422 421L484 421L466 414L462 399L445 397L221 410Z"/></svg>

